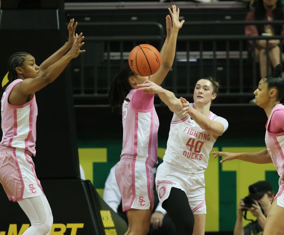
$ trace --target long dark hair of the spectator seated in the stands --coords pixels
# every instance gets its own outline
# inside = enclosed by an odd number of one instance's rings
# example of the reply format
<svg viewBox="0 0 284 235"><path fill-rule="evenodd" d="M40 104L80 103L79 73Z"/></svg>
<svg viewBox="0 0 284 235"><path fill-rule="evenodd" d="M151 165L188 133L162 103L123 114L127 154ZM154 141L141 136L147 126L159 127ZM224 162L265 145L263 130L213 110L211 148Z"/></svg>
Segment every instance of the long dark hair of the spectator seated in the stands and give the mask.
<svg viewBox="0 0 284 235"><path fill-rule="evenodd" d="M283 8L281 0L277 0L276 8L272 12L273 20L283 20ZM266 9L263 5L263 0L257 0L255 4L254 17L256 20L266 19ZM264 33L264 25L257 25L258 34ZM281 35L282 25L271 25L275 35Z"/></svg>

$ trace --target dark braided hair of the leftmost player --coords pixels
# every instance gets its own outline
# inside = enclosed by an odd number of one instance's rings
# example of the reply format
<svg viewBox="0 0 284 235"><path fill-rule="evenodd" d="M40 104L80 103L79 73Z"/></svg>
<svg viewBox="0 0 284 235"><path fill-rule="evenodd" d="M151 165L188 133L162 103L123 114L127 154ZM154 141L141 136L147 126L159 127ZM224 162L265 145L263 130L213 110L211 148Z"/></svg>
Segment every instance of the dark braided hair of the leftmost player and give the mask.
<svg viewBox="0 0 284 235"><path fill-rule="evenodd" d="M26 55L28 55L27 52L17 52L15 54L12 54L12 56L10 56L8 60L8 71L9 71L8 81L9 82L7 82L7 84L2 88L0 97L2 97L7 86L9 86L11 82L17 79L16 67L23 65L23 62L26 59Z"/></svg>

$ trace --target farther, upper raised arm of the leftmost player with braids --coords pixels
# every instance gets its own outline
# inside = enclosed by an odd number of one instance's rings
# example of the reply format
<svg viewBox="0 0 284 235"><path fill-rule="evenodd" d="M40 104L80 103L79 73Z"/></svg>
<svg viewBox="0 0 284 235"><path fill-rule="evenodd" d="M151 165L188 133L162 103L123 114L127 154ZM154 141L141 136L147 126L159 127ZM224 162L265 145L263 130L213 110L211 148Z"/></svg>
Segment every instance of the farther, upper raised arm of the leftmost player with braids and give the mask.
<svg viewBox="0 0 284 235"><path fill-rule="evenodd" d="M75 29L78 25L78 22L76 22L74 26L73 24L74 24L74 19L70 20L67 26L69 32L68 41L58 51L56 51L54 54L49 56L49 58L47 58L45 61L41 63L41 65L39 66L41 72L44 72L44 70L46 70L49 66L51 66L56 61L61 59L62 56L64 56L65 53L72 47L75 40Z"/></svg>

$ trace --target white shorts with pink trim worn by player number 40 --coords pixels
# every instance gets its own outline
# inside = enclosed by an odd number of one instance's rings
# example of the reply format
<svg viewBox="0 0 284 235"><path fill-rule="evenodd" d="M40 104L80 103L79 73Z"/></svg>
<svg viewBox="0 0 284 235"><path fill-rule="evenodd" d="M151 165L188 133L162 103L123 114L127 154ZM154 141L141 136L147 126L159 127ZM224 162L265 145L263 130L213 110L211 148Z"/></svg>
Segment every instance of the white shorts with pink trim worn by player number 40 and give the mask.
<svg viewBox="0 0 284 235"><path fill-rule="evenodd" d="M161 204L169 197L172 187L185 192L193 214L206 214L204 173L185 175L163 162L156 173L156 189Z"/></svg>

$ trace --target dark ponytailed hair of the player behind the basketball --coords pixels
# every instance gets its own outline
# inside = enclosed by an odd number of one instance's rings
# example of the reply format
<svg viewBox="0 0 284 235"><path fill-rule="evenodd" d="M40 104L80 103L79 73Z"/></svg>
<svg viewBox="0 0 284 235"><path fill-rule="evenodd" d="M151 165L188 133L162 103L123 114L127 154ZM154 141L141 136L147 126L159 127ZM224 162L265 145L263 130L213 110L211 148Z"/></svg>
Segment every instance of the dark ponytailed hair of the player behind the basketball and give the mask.
<svg viewBox="0 0 284 235"><path fill-rule="evenodd" d="M123 102L130 101L126 96L128 95L129 91L132 89L128 78L130 76L136 76L136 74L130 69L130 67L125 65L122 70L115 75L114 79L112 80L112 85L110 86L109 90L109 104L112 108L122 108Z"/></svg>

